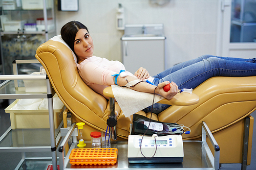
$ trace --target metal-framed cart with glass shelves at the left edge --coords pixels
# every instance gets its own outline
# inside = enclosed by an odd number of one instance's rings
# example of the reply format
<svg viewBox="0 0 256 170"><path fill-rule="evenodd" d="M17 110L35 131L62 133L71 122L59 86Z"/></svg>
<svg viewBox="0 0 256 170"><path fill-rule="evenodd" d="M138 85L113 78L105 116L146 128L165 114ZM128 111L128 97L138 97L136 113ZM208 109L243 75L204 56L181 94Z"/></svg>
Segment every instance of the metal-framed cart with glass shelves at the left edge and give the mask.
<svg viewBox="0 0 256 170"><path fill-rule="evenodd" d="M24 144L23 146L13 144L10 139L10 135L18 134L18 130L12 130L11 127L0 137L0 152L21 152L22 160L25 161L25 152L51 152L50 160L52 160L53 169L57 169L57 152L56 152L56 143L60 139L60 135L55 136L54 128L54 117L53 117L53 92L52 85L47 77L47 75L17 75L16 64L19 63L39 63L37 60L16 60L14 61L14 75L1 75L0 80L4 80L0 84L0 99L48 99L48 110L49 110L49 125L50 125L50 146L28 146ZM16 75L15 75L16 74ZM18 87L18 80L46 80L47 81L47 93L26 93L25 88ZM53 92L52 92L53 91ZM24 130L26 131L26 130ZM36 133L40 133L40 130L35 129ZM31 134L33 135L33 134ZM6 145L6 143L9 144Z"/></svg>

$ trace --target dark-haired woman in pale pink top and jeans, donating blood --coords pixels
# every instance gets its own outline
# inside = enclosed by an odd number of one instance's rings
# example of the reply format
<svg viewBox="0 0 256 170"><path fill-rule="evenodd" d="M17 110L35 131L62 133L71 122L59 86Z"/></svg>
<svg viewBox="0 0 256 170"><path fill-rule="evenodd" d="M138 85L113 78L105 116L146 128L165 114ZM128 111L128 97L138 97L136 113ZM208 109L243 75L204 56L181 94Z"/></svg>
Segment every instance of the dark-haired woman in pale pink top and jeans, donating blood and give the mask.
<svg viewBox="0 0 256 170"><path fill-rule="evenodd" d="M62 39L77 56L77 67L83 81L102 95L106 86L114 84L125 86L128 83L148 80L154 85L142 81L130 88L141 92L155 92L166 99L172 99L178 93L179 88L195 88L211 77L256 76L255 58L225 58L211 55L177 64L154 77L151 77L142 67L134 75L125 71L127 76L119 76L120 70L125 70L124 65L119 61L109 61L93 56L93 40L87 27L82 23L70 21L61 28L60 33ZM163 87L169 82L171 82L170 90L165 92ZM160 113L168 106L154 104L153 112ZM144 111L150 112L151 107L145 108Z"/></svg>

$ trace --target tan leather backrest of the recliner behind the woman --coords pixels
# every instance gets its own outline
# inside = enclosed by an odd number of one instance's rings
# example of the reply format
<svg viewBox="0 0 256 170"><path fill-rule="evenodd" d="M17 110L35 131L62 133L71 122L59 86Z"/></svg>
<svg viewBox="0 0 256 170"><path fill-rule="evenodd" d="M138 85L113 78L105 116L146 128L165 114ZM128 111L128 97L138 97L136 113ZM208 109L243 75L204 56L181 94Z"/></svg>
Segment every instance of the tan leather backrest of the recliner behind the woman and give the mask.
<svg viewBox="0 0 256 170"><path fill-rule="evenodd" d="M90 126L105 128L102 117L107 101L82 81L70 48L50 39L37 48L35 57L46 69L55 92L66 107Z"/></svg>

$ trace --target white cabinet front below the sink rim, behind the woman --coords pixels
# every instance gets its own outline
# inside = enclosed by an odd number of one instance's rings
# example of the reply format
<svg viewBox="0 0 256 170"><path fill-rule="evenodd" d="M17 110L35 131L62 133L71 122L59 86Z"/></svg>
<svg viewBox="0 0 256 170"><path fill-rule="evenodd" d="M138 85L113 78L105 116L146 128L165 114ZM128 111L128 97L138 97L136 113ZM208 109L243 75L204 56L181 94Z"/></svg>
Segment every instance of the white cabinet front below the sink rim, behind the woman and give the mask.
<svg viewBox="0 0 256 170"><path fill-rule="evenodd" d="M151 76L164 71L164 44L165 39L122 40L122 62L126 70L134 74L143 67Z"/></svg>

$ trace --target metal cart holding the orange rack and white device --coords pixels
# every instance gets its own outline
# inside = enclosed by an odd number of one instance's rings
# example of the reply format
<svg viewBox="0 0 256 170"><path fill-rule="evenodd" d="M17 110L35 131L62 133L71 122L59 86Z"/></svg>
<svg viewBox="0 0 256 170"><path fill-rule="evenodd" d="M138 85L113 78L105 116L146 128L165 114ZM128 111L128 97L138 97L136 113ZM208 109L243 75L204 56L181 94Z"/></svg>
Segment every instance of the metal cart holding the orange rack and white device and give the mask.
<svg viewBox="0 0 256 170"><path fill-rule="evenodd" d="M69 129L69 130L68 130ZM60 169L155 169L161 168L163 170L167 169L219 169L220 162L220 148L216 142L214 136L211 134L209 128L205 122L202 122L202 140L185 140L184 145L184 159L182 163L146 163L146 164L132 164L128 162L127 158L127 141L113 141L111 143L111 148L118 149L117 163L115 165L71 165L69 163L69 155L71 150L77 148L77 129L75 128L75 123L71 128L63 129L63 136L65 138L59 145L59 167ZM62 131L62 129L61 129ZM67 132L67 133L66 133ZM62 132L61 132L62 133ZM61 135L61 136L62 136ZM208 144L206 142L206 136L211 141L211 144L215 148L214 156L212 155ZM73 143L65 157L65 147L68 144L69 138L73 139ZM91 141L86 142L86 148L91 148Z"/></svg>

